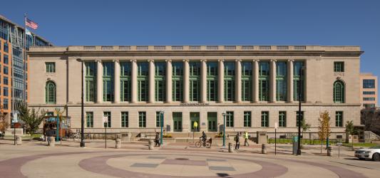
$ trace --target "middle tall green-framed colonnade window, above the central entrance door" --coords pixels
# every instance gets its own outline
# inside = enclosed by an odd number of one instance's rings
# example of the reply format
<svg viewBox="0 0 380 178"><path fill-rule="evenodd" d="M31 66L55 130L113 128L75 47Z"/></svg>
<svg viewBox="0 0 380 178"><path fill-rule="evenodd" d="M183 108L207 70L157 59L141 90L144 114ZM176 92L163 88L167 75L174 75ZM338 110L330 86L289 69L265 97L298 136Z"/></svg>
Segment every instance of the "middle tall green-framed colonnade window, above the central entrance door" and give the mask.
<svg viewBox="0 0 380 178"><path fill-rule="evenodd" d="M200 100L200 62L190 62L190 101Z"/></svg>

